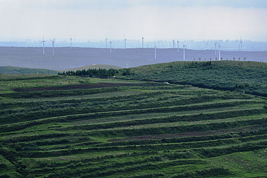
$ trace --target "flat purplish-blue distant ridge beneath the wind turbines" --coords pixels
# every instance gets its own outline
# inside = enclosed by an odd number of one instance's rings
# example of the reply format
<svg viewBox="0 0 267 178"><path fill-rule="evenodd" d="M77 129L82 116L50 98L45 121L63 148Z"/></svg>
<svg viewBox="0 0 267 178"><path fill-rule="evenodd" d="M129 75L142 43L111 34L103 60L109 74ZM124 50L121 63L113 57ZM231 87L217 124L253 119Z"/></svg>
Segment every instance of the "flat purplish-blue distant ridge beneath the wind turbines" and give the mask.
<svg viewBox="0 0 267 178"><path fill-rule="evenodd" d="M154 48L135 48L135 49L110 49L105 48L67 48L56 47L55 56L52 55L52 48L41 47L1 47L0 46L0 61L1 66L17 66L25 68L42 68L51 70L69 70L81 66L92 64L107 64L119 66L122 68L138 67L149 64L168 63L174 61L183 61L183 50L175 49L157 49L155 60ZM223 51L221 57L223 60L233 60L235 57L241 58L241 61L258 61L267 62L267 51ZM202 61L212 61L218 58L215 50L192 50L185 49L185 61L193 61L193 58L201 58ZM95 66L94 66L95 68Z"/></svg>

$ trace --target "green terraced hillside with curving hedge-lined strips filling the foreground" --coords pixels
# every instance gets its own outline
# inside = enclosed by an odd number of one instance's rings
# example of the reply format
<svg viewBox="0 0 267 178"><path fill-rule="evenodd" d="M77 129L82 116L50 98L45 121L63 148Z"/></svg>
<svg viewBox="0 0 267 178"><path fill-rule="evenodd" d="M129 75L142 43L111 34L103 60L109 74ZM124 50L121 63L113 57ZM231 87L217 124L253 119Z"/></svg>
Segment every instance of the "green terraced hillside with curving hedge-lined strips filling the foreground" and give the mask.
<svg viewBox="0 0 267 178"><path fill-rule="evenodd" d="M164 82L0 78L0 177L267 176L264 97Z"/></svg>

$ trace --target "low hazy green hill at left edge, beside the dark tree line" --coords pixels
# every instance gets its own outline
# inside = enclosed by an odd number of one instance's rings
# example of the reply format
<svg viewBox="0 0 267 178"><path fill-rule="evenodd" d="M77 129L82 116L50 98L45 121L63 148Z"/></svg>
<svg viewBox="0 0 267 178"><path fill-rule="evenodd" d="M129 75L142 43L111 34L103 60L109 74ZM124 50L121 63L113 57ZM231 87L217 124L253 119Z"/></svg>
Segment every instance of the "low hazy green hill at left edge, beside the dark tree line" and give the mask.
<svg viewBox="0 0 267 178"><path fill-rule="evenodd" d="M1 66L0 74L48 74L47 69L34 69L12 66ZM58 74L58 71L49 70L49 74Z"/></svg>

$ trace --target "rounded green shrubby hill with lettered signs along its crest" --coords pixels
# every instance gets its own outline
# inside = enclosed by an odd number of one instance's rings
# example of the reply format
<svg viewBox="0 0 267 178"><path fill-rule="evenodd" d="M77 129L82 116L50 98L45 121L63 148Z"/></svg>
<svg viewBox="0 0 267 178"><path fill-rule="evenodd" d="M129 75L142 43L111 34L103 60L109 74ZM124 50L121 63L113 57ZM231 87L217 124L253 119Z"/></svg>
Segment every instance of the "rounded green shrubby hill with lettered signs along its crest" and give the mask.
<svg viewBox="0 0 267 178"><path fill-rule="evenodd" d="M126 79L167 81L267 97L267 63L172 62L130 68Z"/></svg>

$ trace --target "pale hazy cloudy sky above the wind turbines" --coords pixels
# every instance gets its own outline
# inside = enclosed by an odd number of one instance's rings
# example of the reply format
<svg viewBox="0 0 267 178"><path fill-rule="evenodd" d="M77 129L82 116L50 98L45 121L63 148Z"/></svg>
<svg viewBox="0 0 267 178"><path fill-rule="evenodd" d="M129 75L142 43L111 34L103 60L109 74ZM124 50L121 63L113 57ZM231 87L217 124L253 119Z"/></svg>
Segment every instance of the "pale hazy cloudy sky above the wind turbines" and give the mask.
<svg viewBox="0 0 267 178"><path fill-rule="evenodd" d="M267 41L266 0L0 0L0 41Z"/></svg>

